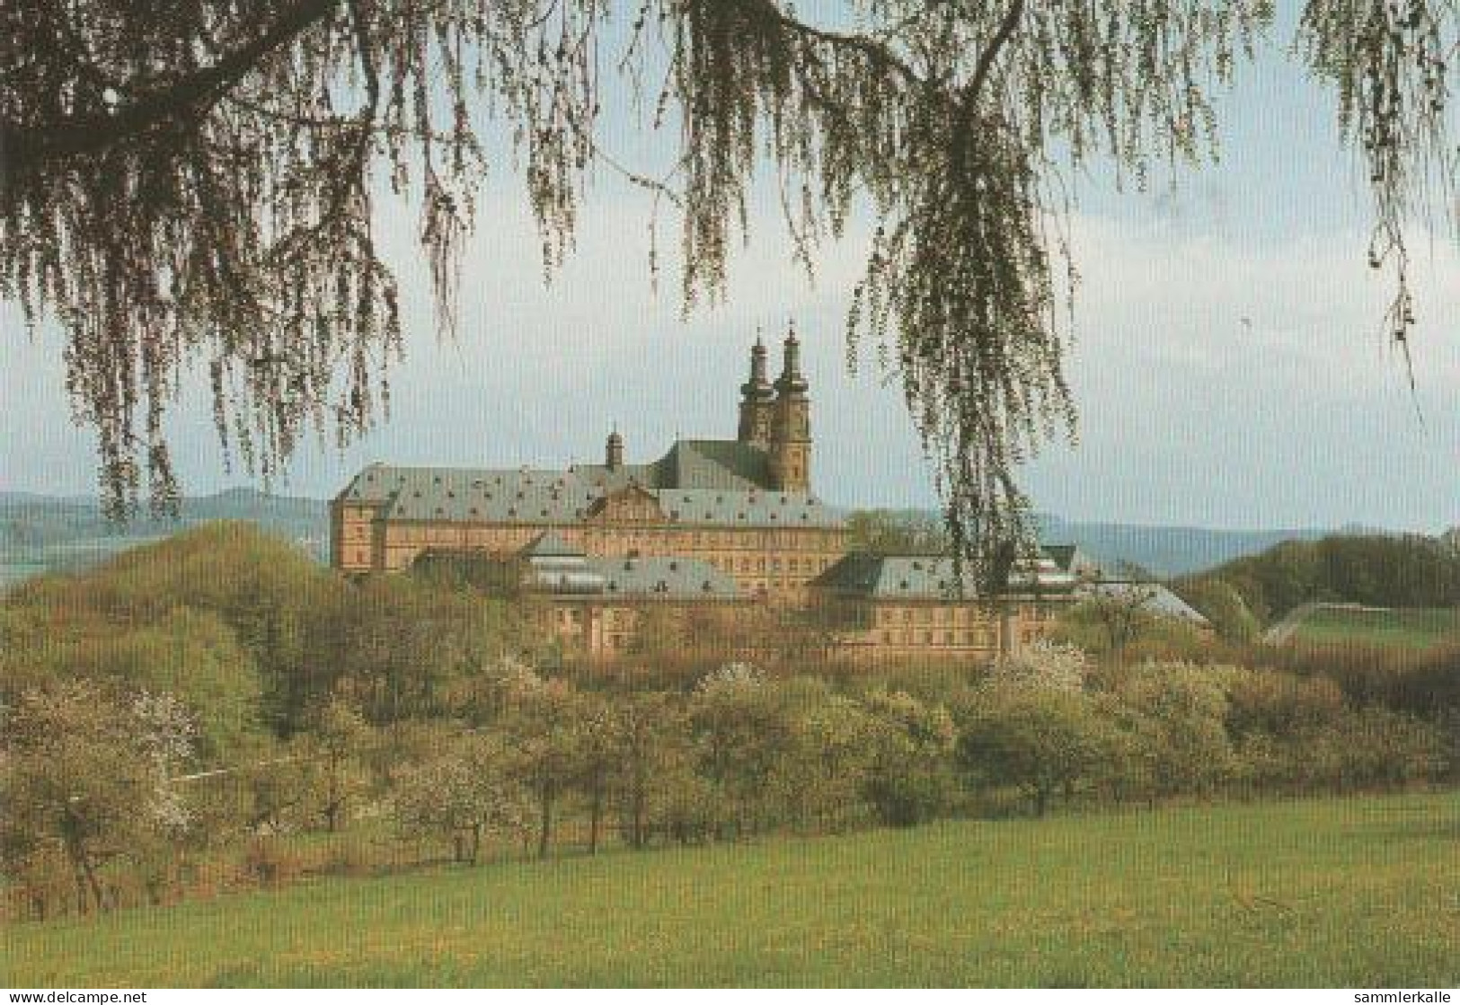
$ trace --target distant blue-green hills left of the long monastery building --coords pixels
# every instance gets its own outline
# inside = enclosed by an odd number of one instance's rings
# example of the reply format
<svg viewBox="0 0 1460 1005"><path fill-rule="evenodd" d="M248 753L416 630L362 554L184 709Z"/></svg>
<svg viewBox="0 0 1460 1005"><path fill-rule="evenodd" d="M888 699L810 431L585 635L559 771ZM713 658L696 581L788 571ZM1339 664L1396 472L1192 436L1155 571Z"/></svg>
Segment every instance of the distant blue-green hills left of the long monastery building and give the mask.
<svg viewBox="0 0 1460 1005"><path fill-rule="evenodd" d="M51 569L85 567L219 519L257 524L321 562L328 551L328 508L321 499L228 489L184 500L177 519L140 516L118 527L105 519L96 499L0 492L0 586Z"/></svg>

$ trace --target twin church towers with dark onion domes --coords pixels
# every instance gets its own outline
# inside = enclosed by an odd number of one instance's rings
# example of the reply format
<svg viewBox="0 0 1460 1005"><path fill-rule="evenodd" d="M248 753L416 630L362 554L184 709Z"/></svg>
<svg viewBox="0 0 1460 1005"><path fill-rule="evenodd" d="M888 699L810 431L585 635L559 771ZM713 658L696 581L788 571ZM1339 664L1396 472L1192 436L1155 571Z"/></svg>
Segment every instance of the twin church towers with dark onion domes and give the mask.
<svg viewBox="0 0 1460 1005"><path fill-rule="evenodd" d="M771 486L781 492L812 490L812 403L802 375L802 343L796 330L785 337L781 376L765 375L765 343L750 350L750 379L740 385L740 433L771 458Z"/></svg>

